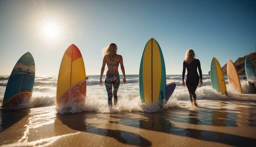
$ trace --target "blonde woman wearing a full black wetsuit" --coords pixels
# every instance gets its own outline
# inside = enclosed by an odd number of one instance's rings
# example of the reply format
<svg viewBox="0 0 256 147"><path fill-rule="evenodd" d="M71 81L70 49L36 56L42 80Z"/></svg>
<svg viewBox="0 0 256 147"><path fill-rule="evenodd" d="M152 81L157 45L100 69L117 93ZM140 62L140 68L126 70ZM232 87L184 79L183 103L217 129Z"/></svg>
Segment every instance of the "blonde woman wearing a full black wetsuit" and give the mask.
<svg viewBox="0 0 256 147"><path fill-rule="evenodd" d="M187 50L185 60L183 62L183 72L182 72L182 85L185 86L184 76L187 68L187 78L186 78L186 85L188 88L190 101L192 105L197 106L196 103L196 88L199 83L199 76L197 73L197 68L200 74L200 85L203 84L202 81L202 70L200 61L195 59L195 52L192 49ZM193 97L193 99L192 99Z"/></svg>

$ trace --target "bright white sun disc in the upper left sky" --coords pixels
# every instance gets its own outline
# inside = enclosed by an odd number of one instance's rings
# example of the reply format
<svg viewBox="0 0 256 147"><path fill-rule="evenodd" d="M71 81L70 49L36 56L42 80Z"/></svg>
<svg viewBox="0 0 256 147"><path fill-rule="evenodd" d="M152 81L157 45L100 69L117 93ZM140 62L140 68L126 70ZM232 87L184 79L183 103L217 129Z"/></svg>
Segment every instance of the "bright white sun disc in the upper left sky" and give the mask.
<svg viewBox="0 0 256 147"><path fill-rule="evenodd" d="M56 38L60 34L60 28L55 23L45 23L42 31L44 36L48 39Z"/></svg>

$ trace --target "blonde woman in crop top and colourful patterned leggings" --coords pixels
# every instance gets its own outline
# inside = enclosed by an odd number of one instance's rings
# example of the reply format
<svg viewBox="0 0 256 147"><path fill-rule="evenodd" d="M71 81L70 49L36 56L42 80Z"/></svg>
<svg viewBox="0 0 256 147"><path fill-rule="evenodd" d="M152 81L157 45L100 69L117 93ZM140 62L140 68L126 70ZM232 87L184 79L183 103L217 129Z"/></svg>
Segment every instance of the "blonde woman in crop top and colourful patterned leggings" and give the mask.
<svg viewBox="0 0 256 147"><path fill-rule="evenodd" d="M118 73L118 66L119 63L121 65L121 70L124 76L123 83L126 82L125 79L125 72L124 72L124 65L123 65L123 58L121 55L117 55L117 46L114 43L108 45L108 47L103 51L103 63L100 73L100 85L102 85L102 75L105 70L105 65L108 66L108 71L106 74L105 79L105 86L108 93L108 105L112 107L112 97L114 94L114 104L117 104L117 91L120 84L120 77ZM112 86L114 88L112 92ZM113 93L113 94L112 94Z"/></svg>

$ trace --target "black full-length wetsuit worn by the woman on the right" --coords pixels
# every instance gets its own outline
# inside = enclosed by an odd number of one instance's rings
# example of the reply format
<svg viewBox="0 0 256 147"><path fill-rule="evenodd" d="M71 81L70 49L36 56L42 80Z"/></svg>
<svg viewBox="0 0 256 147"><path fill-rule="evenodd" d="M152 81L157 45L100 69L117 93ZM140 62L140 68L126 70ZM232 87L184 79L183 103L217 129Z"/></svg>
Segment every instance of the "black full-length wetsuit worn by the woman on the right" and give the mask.
<svg viewBox="0 0 256 147"><path fill-rule="evenodd" d="M190 101L193 101L192 96L194 99L196 99L196 88L199 83L199 76L197 73L197 68L200 74L200 79L202 79L202 70L200 61L198 59L194 59L190 64L183 62L183 72L182 72L182 81L184 81L185 72L187 68L187 79L186 79L186 85L189 92Z"/></svg>

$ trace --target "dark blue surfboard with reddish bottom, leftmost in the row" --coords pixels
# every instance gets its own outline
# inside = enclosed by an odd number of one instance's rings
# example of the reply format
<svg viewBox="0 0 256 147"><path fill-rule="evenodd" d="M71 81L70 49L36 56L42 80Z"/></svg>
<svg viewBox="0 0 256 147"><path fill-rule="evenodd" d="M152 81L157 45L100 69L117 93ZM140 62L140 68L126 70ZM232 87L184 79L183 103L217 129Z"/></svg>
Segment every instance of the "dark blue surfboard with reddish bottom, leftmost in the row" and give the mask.
<svg viewBox="0 0 256 147"><path fill-rule="evenodd" d="M35 80L35 62L27 52L20 57L8 79L2 107L15 107L31 98Z"/></svg>

